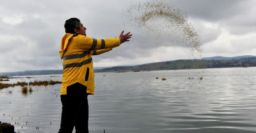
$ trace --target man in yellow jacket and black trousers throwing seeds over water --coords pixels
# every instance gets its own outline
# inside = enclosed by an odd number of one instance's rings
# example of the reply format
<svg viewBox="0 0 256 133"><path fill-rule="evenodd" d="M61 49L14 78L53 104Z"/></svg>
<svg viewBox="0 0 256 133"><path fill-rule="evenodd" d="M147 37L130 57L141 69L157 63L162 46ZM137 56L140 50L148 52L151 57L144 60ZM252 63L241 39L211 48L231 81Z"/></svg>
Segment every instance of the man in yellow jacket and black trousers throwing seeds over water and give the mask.
<svg viewBox="0 0 256 133"><path fill-rule="evenodd" d="M94 39L86 36L86 28L77 18L65 22L59 51L63 59L61 85L61 127L59 133L88 133L88 95L94 95L94 73L91 55L99 55L129 41L128 32L119 38Z"/></svg>

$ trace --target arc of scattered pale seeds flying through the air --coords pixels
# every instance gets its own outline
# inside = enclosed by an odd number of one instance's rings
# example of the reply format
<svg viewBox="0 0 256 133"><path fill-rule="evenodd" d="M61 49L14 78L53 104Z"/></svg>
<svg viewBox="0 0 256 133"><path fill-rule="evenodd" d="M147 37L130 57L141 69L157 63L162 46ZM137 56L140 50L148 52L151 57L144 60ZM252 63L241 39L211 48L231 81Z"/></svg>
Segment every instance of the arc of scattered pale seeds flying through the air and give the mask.
<svg viewBox="0 0 256 133"><path fill-rule="evenodd" d="M143 33L154 34L156 40L161 36L168 36L168 45L181 47L186 53L184 56L204 59L201 37L190 23L187 13L171 2L131 2L120 15L125 19L124 25L133 26ZM199 63L195 68L202 66Z"/></svg>

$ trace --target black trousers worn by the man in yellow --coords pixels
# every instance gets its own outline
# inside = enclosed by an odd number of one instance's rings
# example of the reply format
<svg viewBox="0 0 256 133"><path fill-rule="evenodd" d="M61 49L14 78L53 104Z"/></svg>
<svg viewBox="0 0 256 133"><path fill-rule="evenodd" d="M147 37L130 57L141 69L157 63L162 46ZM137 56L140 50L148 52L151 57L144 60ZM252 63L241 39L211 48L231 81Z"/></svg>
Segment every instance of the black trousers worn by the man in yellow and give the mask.
<svg viewBox="0 0 256 133"><path fill-rule="evenodd" d="M87 94L61 95L62 113L61 128L58 133L89 133Z"/></svg>

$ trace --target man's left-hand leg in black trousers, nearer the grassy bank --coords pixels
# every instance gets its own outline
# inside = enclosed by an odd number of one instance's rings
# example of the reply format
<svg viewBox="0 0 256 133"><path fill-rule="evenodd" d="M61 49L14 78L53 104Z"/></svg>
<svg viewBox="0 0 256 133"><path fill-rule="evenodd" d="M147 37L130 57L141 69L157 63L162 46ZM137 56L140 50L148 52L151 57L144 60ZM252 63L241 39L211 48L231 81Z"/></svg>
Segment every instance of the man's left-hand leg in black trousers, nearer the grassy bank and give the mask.
<svg viewBox="0 0 256 133"><path fill-rule="evenodd" d="M72 133L83 99L79 95L61 95L61 128L58 133Z"/></svg>

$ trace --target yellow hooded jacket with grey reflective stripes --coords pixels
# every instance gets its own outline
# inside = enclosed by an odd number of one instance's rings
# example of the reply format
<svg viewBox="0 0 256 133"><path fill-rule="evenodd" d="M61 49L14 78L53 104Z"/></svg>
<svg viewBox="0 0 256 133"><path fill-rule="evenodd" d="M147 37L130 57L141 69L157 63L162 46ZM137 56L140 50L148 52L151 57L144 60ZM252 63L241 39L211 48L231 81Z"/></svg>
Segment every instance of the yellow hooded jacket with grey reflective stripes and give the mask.
<svg viewBox="0 0 256 133"><path fill-rule="evenodd" d="M91 55L99 55L120 45L120 39L95 39L80 34L65 34L59 51L63 59L61 95L94 95L94 72Z"/></svg>

